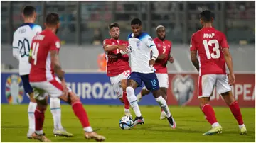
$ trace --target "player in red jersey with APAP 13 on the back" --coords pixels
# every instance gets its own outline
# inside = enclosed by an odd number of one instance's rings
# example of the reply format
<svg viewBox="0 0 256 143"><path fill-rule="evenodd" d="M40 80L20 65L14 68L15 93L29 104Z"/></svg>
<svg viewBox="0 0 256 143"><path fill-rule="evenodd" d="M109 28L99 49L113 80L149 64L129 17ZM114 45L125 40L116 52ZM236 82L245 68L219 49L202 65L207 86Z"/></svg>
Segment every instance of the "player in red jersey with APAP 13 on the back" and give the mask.
<svg viewBox="0 0 256 143"><path fill-rule="evenodd" d="M230 85L235 83L235 74L232 57L228 50L228 42L222 32L212 27L213 13L210 11L201 12L200 22L203 28L193 33L190 50L191 61L199 72L198 98L200 108L206 120L212 125L211 130L203 135L222 132L222 127L218 123L214 110L210 105L210 95L214 86L216 86L217 92L223 96L225 103L230 107L231 112L238 121L240 134L244 135L247 130L242 120L238 101L235 101L230 88ZM227 76L225 64L227 64L230 71L229 76Z"/></svg>

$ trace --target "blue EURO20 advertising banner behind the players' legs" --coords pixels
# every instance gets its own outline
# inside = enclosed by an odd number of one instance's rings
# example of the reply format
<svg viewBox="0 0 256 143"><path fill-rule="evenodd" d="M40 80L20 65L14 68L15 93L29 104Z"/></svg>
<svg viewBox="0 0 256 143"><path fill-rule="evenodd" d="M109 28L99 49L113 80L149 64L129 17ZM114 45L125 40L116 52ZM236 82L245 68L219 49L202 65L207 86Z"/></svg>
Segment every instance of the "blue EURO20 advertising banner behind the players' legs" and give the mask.
<svg viewBox="0 0 256 143"><path fill-rule="evenodd" d="M110 78L103 73L67 73L67 86L80 97L84 104L122 105L110 84ZM135 91L139 93L142 87ZM18 73L1 73L1 103L29 103ZM151 95L145 96L139 105L158 105Z"/></svg>

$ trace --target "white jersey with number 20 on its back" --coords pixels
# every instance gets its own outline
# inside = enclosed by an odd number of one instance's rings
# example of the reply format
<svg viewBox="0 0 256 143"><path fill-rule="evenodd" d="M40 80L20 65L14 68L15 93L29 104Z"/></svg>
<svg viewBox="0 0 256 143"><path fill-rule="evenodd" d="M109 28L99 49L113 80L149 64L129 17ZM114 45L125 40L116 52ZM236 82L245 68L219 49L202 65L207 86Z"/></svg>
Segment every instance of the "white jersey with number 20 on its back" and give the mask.
<svg viewBox="0 0 256 143"><path fill-rule="evenodd" d="M19 74L29 74L31 64L28 62L29 50L33 37L37 33L41 33L42 28L40 25L33 23L23 23L15 32L13 40L13 56L19 61L18 71Z"/></svg>

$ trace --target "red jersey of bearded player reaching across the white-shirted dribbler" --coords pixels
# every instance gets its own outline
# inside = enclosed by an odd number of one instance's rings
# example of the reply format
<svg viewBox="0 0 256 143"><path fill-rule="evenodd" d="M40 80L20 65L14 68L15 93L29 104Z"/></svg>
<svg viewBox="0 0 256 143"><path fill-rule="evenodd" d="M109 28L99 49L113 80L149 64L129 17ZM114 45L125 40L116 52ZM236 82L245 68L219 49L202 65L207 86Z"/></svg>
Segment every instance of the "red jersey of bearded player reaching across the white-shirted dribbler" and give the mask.
<svg viewBox="0 0 256 143"><path fill-rule="evenodd" d="M128 42L124 40L114 40L106 39L103 42L103 45L127 45ZM110 52L105 52L106 59L107 59L107 76L117 76L124 71L130 70L129 67L129 57L128 55L123 55L122 57L111 58L108 57L109 55L117 55L119 53L119 49L113 50Z"/></svg>

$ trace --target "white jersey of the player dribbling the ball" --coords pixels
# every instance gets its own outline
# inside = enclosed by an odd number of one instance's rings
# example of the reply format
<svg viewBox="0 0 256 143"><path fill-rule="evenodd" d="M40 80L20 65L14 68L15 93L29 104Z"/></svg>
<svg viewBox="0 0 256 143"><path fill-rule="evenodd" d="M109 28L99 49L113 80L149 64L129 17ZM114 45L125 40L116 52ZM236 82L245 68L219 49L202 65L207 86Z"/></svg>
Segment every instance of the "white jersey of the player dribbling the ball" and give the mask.
<svg viewBox="0 0 256 143"><path fill-rule="evenodd" d="M128 35L129 47L129 66L132 72L139 72L142 74L154 73L154 67L149 67L149 60L151 59L150 47L155 45L151 36L147 33L142 33L139 37L134 38L134 34Z"/></svg>

